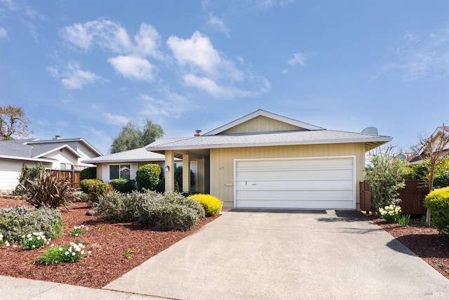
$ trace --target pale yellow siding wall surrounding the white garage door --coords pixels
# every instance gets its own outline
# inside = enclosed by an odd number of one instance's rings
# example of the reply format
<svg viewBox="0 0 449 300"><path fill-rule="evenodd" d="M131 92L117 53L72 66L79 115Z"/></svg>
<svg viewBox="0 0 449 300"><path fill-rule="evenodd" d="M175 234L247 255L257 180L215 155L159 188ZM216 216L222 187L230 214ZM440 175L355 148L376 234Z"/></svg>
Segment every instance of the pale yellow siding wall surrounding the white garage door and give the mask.
<svg viewBox="0 0 449 300"><path fill-rule="evenodd" d="M356 182L363 181L363 143L210 149L210 194L222 200L225 207L234 206L234 159L343 155L356 155ZM358 194L357 185L357 208L360 204Z"/></svg>

